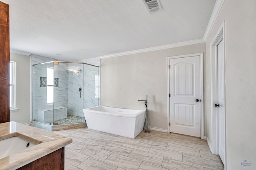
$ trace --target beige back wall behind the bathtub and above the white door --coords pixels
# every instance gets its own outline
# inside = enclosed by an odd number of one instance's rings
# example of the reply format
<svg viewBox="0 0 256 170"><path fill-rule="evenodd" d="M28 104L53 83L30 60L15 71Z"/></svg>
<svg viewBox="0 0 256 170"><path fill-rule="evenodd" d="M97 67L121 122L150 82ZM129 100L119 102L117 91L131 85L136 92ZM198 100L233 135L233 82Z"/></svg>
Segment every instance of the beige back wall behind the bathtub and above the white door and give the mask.
<svg viewBox="0 0 256 170"><path fill-rule="evenodd" d="M167 131L166 57L205 53L205 43L101 59L100 104L144 109L148 94L149 126Z"/></svg>

